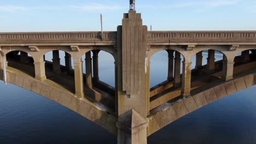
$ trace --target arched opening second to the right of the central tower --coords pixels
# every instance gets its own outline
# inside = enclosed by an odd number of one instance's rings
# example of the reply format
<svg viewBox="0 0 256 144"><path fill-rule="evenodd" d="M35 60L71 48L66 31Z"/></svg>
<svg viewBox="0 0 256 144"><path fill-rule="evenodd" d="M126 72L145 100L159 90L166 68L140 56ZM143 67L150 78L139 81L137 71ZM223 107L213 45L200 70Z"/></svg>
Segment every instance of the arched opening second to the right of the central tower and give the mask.
<svg viewBox="0 0 256 144"><path fill-rule="evenodd" d="M217 50L197 52L191 64L191 94L208 87L211 83L225 79L226 56Z"/></svg>

